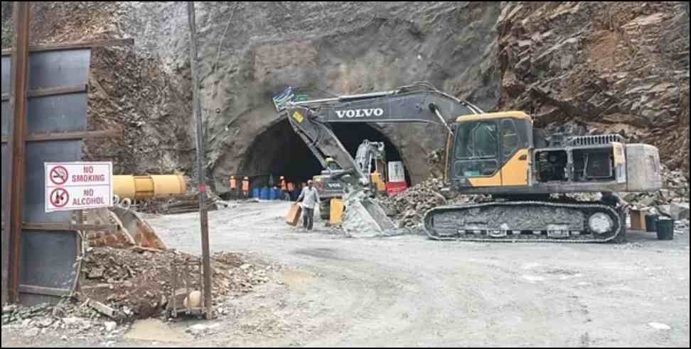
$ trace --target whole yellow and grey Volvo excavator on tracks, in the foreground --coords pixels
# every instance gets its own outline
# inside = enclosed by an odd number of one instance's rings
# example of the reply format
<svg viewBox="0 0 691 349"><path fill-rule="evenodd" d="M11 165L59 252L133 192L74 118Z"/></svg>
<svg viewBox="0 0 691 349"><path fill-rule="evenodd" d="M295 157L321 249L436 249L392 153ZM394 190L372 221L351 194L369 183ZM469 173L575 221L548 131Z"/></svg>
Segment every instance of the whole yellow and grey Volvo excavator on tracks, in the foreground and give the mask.
<svg viewBox="0 0 691 349"><path fill-rule="evenodd" d="M619 135L547 135L521 111L486 113L418 83L389 92L286 103L286 117L346 188L353 229L396 235L370 199L370 177L331 131L331 123L427 123L446 138L445 182L457 194L486 194L484 204L442 206L424 215L433 240L604 243L626 234L626 203L616 193L662 187L657 148L626 144ZM564 194L601 193L594 202Z"/></svg>

